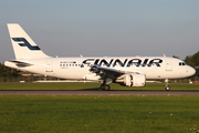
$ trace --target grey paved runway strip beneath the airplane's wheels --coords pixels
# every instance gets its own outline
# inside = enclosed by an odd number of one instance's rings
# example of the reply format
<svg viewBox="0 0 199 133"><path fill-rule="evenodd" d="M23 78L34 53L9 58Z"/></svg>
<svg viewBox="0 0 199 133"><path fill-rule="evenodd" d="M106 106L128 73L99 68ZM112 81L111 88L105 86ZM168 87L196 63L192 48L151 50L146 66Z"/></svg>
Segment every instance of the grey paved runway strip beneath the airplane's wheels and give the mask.
<svg viewBox="0 0 199 133"><path fill-rule="evenodd" d="M199 91L0 90L0 95L199 95Z"/></svg>

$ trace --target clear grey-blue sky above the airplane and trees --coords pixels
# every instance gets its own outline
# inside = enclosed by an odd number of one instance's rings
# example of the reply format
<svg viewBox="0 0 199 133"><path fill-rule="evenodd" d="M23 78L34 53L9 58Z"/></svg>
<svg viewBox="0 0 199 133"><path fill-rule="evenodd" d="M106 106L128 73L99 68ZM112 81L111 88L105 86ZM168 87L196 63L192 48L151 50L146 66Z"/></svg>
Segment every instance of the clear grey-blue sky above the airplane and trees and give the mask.
<svg viewBox="0 0 199 133"><path fill-rule="evenodd" d="M0 62L14 59L7 23L51 57L179 57L199 51L199 0L1 0Z"/></svg>

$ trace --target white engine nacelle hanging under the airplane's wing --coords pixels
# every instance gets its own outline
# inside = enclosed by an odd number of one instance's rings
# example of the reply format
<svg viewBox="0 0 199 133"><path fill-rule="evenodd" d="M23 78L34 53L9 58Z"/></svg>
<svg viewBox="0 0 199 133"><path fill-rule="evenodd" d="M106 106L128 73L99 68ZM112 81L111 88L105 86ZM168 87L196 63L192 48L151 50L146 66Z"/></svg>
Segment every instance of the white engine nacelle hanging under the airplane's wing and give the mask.
<svg viewBox="0 0 199 133"><path fill-rule="evenodd" d="M124 84L127 86L145 86L145 74L126 74L124 76Z"/></svg>

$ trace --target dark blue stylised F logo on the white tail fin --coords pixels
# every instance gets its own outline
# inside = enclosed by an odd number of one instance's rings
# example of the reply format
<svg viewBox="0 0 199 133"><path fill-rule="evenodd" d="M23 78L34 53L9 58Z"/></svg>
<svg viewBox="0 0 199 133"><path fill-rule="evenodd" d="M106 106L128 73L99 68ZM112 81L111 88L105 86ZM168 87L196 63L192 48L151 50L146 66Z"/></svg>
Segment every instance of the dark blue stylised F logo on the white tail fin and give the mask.
<svg viewBox="0 0 199 133"><path fill-rule="evenodd" d="M24 38L12 38L13 41L15 42L23 42L23 43L18 43L20 47L28 47L30 50L40 50L39 47L32 47Z"/></svg>

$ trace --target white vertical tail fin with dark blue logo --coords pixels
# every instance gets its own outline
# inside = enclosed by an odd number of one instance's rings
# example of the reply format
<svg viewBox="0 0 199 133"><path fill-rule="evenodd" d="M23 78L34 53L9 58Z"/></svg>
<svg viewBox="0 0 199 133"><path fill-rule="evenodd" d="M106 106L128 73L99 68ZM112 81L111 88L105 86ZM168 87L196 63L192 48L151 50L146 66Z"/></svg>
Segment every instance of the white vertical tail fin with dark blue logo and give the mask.
<svg viewBox="0 0 199 133"><path fill-rule="evenodd" d="M8 23L15 59L50 58L34 43L18 23Z"/></svg>

